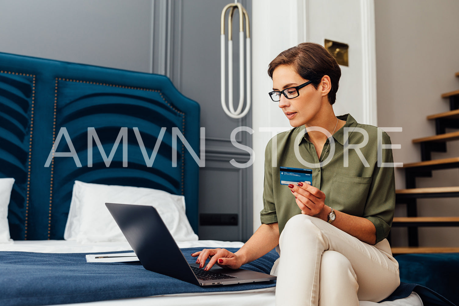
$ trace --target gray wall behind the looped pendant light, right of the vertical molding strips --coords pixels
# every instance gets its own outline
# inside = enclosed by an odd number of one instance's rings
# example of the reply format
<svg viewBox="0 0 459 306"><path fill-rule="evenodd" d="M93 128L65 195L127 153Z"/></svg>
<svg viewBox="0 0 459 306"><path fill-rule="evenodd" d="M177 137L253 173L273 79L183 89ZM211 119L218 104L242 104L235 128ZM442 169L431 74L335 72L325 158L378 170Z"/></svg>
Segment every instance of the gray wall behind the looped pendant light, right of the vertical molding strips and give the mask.
<svg viewBox="0 0 459 306"><path fill-rule="evenodd" d="M174 1L178 2L181 1ZM239 169L229 163L231 159L239 163L249 159L246 151L231 144L230 135L238 126L252 126L252 112L243 119L232 119L226 116L220 104L220 14L230 2L183 1L180 91L201 104L201 126L206 127L206 167L200 172L200 212L239 214L238 227L201 226L200 238L247 240L252 235L252 167ZM251 16L252 1L240 2ZM239 19L235 16L234 20L233 33L238 38ZM239 76L238 42L233 42L234 76ZM235 99L239 99L238 80L235 78L233 82ZM240 132L236 140L252 147L249 136Z"/></svg>

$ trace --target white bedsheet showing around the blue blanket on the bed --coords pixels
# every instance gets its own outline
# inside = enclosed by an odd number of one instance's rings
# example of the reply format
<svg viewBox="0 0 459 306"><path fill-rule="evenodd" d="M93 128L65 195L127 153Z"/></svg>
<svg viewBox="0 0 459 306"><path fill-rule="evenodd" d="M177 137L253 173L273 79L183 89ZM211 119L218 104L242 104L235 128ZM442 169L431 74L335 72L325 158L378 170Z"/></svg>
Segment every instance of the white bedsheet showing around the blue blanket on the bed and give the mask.
<svg viewBox="0 0 459 306"><path fill-rule="evenodd" d="M177 243L180 248L239 248L242 242L229 242L217 240L198 240ZM80 244L66 240L44 241L15 241L13 244L0 244L1 251L22 251L38 253L96 253L132 250L127 242L105 242L94 244ZM274 306L273 288L259 289L243 292L216 292L213 294L179 294L141 297L135 299L105 300L90 303L72 304L72 306L214 306L214 305L238 305L238 306ZM68 305L68 304L67 304ZM409 297L392 302L373 303L360 301L360 306L423 306L416 293Z"/></svg>

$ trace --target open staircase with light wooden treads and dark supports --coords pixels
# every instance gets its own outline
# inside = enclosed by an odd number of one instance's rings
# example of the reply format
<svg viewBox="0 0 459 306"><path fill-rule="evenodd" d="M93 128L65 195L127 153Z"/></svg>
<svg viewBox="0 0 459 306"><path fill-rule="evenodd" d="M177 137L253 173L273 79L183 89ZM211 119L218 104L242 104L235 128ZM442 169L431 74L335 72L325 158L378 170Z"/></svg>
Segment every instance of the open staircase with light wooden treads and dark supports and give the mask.
<svg viewBox="0 0 459 306"><path fill-rule="evenodd" d="M459 72L455 74L459 77ZM432 171L459 168L459 157L447 159L431 158L432 152L446 152L446 143L459 139L459 131L446 132L447 128L459 129L459 90L442 94L449 100L450 111L427 116L435 120L435 136L413 139L421 148L421 161L404 164L407 189L396 190L396 204L406 204L407 216L394 217L392 227L408 227L409 247L392 248L393 254L407 253L456 253L457 248L419 247L418 227L459 226L458 217L418 217L416 200L418 198L459 198L459 186L416 188L416 177L431 177Z"/></svg>

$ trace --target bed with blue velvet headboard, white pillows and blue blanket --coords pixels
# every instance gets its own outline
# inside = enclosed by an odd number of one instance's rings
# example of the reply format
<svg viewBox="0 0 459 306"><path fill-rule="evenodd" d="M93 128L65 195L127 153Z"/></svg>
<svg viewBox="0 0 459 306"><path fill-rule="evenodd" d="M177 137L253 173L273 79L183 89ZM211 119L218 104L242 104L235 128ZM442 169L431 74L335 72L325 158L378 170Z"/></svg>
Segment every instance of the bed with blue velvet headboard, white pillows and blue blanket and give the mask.
<svg viewBox="0 0 459 306"><path fill-rule="evenodd" d="M206 292L199 287L185 292L180 288L186 283L174 283L165 286L174 287L172 293L130 292L123 298L94 293L102 291L103 282L95 279L104 266L95 267L94 275L78 273L78 266L90 265L84 254L131 250L105 202L154 202L184 251L241 247L241 242L202 241L196 235L199 114L199 104L162 75L0 53L0 303L274 305L275 282ZM276 256L273 250L247 268L269 273ZM48 266L40 266L43 262ZM46 272L53 265L61 270L45 280L27 270ZM108 266L152 273L147 278L154 274L138 262ZM51 287L77 286L64 275L81 278L94 292L50 299ZM32 288L45 281L50 285ZM361 302L371 305L422 302L409 290L393 301Z"/></svg>

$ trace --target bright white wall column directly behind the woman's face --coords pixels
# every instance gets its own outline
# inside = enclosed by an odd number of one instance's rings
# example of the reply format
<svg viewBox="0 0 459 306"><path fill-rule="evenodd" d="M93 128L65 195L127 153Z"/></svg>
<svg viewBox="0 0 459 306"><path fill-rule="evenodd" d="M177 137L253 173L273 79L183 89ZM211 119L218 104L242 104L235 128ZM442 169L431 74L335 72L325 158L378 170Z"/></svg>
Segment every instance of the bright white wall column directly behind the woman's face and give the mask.
<svg viewBox="0 0 459 306"><path fill-rule="evenodd" d="M252 126L253 150L253 229L260 226L263 208L264 149L270 132L260 132L260 127L280 127L290 130L278 104L268 92L272 80L267 74L268 64L281 51L307 41L306 11L308 0L252 0ZM297 12L291 14L291 12ZM285 14L289 14L286 18Z"/></svg>

